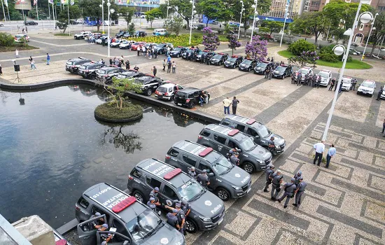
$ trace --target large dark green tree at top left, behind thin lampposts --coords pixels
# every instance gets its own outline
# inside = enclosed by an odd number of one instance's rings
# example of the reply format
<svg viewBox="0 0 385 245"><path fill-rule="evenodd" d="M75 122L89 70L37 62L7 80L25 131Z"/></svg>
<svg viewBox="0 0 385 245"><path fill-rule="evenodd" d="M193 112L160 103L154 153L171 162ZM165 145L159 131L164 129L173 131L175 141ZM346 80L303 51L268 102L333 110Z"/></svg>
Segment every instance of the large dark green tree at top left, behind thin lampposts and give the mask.
<svg viewBox="0 0 385 245"><path fill-rule="evenodd" d="M79 8L83 9L83 16L87 16L97 20L97 31L99 31L100 23L102 22L102 8L99 7L101 3L102 2L94 1L94 0L79 1ZM113 8L116 10L115 13L110 14L110 18L111 20L118 20L118 5L116 5L114 1L110 1L110 3L111 3L110 9ZM104 9L104 20L107 20L109 16L109 8L107 6L107 1L104 1L103 9Z"/></svg>

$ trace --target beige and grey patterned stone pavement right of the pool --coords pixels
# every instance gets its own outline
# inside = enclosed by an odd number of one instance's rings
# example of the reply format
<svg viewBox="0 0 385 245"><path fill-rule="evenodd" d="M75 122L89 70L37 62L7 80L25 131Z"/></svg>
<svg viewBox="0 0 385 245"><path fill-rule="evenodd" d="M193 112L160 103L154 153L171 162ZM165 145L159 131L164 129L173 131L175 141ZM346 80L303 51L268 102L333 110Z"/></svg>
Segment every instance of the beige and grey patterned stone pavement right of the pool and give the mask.
<svg viewBox="0 0 385 245"><path fill-rule="evenodd" d="M353 91L339 94L327 139L337 156L325 169L311 164L312 146L321 140L333 92L182 59L176 61L177 73L167 74L160 59L129 57L141 71L151 72L155 65L165 80L204 87L211 100L198 110L205 113L223 116L223 98L237 96L239 115L260 120L286 139L286 151L274 158L284 180L301 169L309 183L301 206L283 209L262 192L263 173L253 174L251 193L225 203L220 227L187 235L188 244L385 244L385 138L379 133L384 102Z"/></svg>

